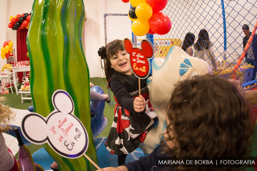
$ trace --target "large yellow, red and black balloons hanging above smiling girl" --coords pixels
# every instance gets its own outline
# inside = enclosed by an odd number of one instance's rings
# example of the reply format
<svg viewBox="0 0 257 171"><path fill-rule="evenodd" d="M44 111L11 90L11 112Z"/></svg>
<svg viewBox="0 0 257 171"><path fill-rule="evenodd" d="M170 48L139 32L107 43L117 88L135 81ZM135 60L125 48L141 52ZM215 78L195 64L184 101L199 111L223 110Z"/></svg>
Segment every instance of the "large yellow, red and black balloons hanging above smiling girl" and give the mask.
<svg viewBox="0 0 257 171"><path fill-rule="evenodd" d="M130 0L133 7L128 11L128 17L133 21L132 32L136 36L146 33L167 34L171 29L171 21L166 14L159 12L167 3L168 0Z"/></svg>

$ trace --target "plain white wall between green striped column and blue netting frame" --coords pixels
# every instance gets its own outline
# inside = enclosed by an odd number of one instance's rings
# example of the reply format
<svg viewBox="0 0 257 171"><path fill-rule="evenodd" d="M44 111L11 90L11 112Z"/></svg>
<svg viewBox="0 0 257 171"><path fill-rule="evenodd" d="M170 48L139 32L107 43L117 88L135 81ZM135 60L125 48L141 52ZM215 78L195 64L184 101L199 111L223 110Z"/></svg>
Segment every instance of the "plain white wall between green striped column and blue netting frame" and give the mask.
<svg viewBox="0 0 257 171"><path fill-rule="evenodd" d="M104 14L127 14L130 4L121 0L84 0L84 6L87 18L84 24L85 55L90 77L104 77L97 54L99 48L105 46Z"/></svg>

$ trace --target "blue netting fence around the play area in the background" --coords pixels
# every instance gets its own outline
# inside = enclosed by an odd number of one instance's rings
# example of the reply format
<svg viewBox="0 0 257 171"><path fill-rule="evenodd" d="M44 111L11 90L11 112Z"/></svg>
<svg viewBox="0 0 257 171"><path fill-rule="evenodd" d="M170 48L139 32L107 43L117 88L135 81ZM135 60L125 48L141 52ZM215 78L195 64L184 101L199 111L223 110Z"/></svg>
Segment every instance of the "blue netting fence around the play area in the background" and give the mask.
<svg viewBox="0 0 257 171"><path fill-rule="evenodd" d="M247 24L252 32L257 20L257 2L256 0L169 0L161 12L169 16L172 27L168 34L154 34L154 57L166 56L172 46L182 47L186 34L191 32L195 35L195 40L190 46L192 56L199 57L200 54L200 57L209 60L210 63L217 63L216 67L219 71L214 71L214 74L230 79L244 48L243 38L246 35L242 26ZM106 44L115 39L129 38L135 46L140 45L142 38L146 38L146 36L132 36L131 21L127 14L105 14L104 18ZM208 48L211 49L208 54L203 50L204 48L197 50L194 46L202 39L198 37L201 29L207 30L212 45L212 48ZM257 47L253 46L255 41L257 44L256 38L252 40L253 54L257 50ZM204 52L202 53L201 50ZM211 59L212 55L216 60ZM247 62L243 60L237 70L236 78L243 86L248 86L246 82L255 80L254 66L257 68L255 61L257 59L255 60L253 55L252 60ZM210 66L216 69L215 65Z"/></svg>

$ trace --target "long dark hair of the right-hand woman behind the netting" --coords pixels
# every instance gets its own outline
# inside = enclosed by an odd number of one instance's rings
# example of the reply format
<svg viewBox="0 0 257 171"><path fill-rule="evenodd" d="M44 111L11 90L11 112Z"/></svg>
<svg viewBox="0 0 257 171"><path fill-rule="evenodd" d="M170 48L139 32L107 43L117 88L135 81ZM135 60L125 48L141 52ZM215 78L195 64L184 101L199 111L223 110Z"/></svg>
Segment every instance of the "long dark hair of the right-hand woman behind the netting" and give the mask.
<svg viewBox="0 0 257 171"><path fill-rule="evenodd" d="M194 47L197 50L201 50L201 49L207 50L211 46L212 46L212 42L210 42L210 40L209 40L209 34L208 34L207 30L205 30L205 29L200 30L199 35L198 35L198 40L195 43Z"/></svg>

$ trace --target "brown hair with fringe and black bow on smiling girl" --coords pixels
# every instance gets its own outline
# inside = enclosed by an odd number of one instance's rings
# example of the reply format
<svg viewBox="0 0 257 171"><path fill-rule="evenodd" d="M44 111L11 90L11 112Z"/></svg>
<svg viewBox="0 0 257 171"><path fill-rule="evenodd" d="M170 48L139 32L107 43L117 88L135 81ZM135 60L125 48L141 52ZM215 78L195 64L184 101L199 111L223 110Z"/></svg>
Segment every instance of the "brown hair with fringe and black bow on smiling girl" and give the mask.
<svg viewBox="0 0 257 171"><path fill-rule="evenodd" d="M115 70L111 68L111 57L119 53L119 51L123 51L123 41L122 40L113 40L109 42L105 47L102 46L99 48L98 55L101 56L101 59L104 60L104 66L101 61L102 70L105 70L105 76L107 82L111 79ZM109 86L107 86L109 88Z"/></svg>

